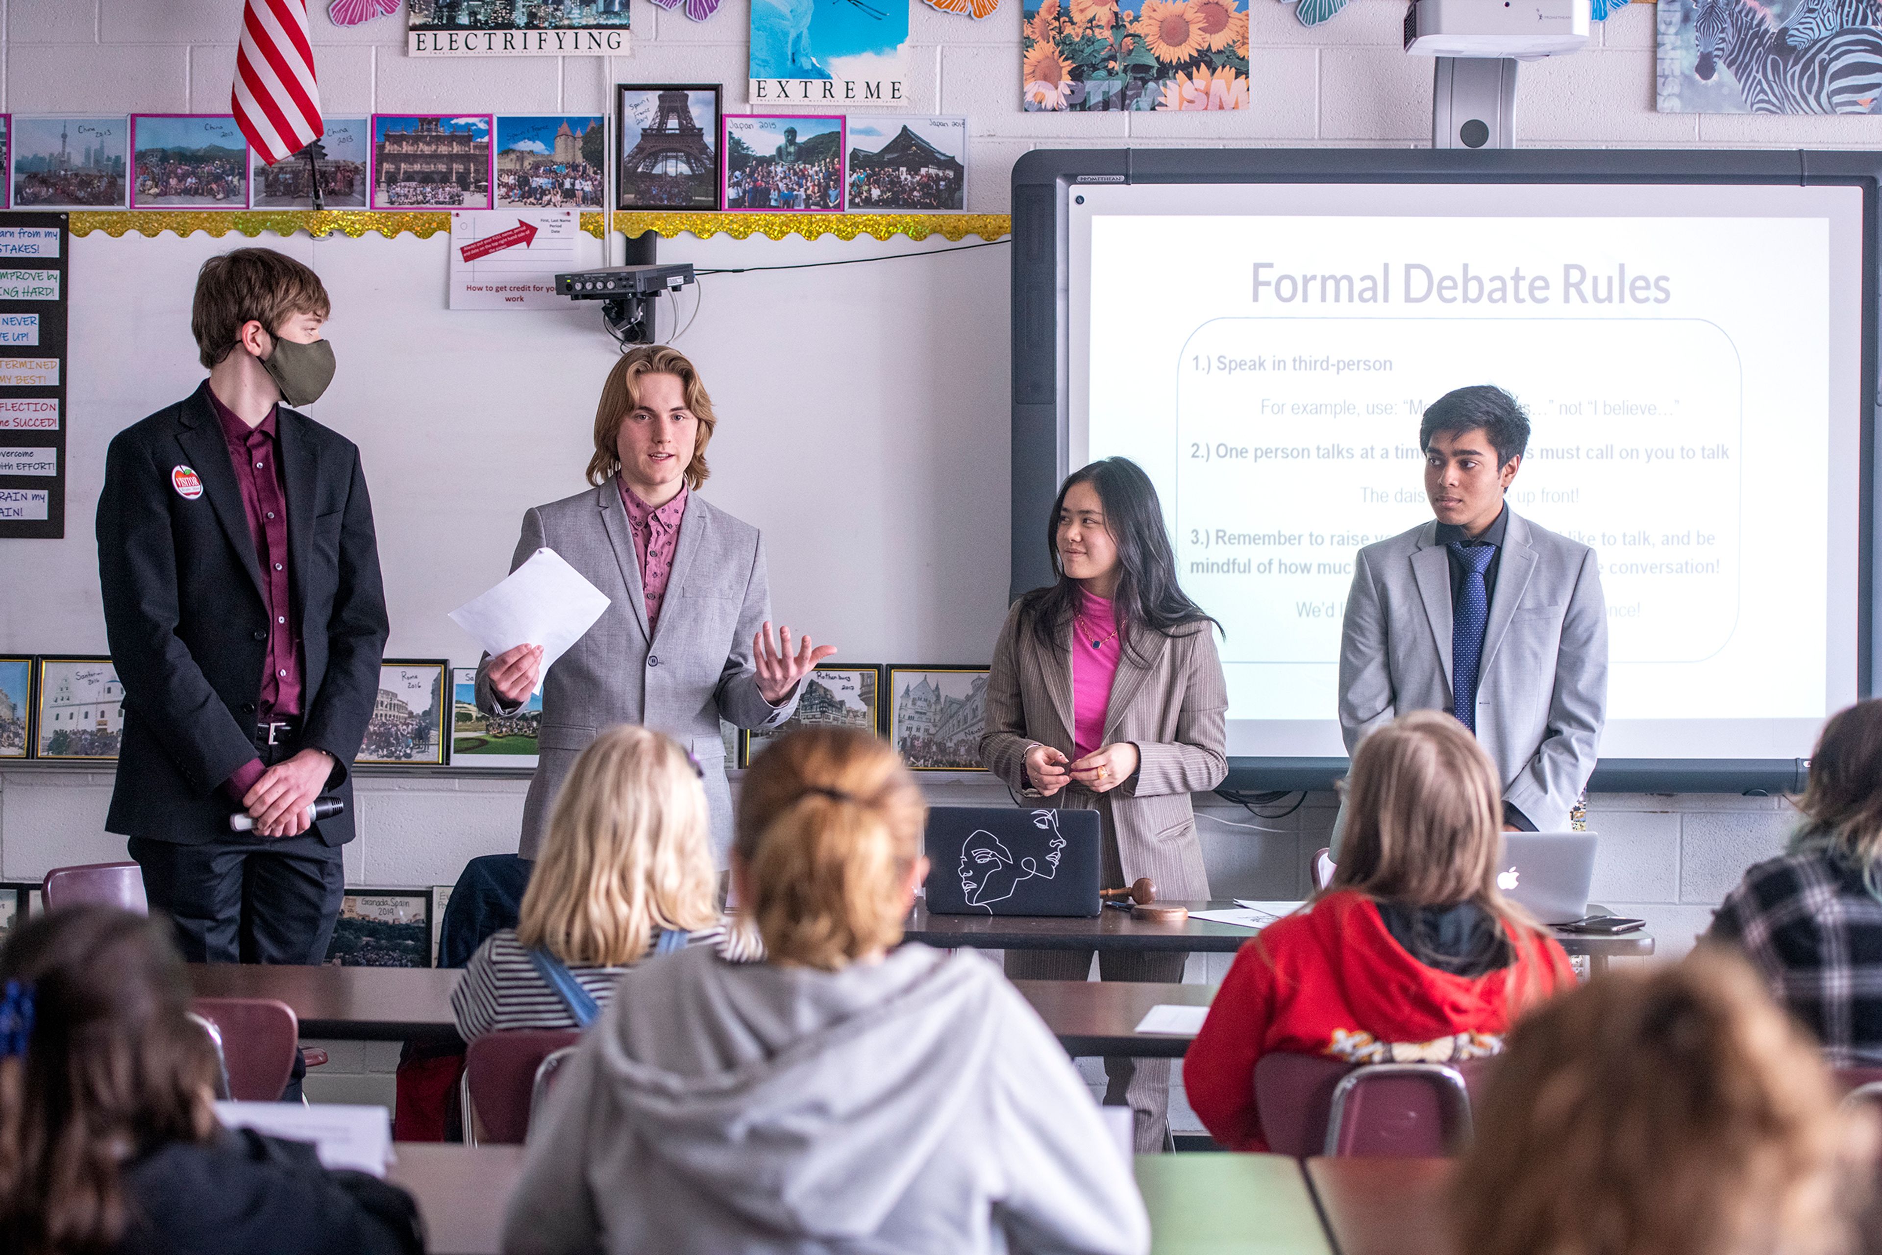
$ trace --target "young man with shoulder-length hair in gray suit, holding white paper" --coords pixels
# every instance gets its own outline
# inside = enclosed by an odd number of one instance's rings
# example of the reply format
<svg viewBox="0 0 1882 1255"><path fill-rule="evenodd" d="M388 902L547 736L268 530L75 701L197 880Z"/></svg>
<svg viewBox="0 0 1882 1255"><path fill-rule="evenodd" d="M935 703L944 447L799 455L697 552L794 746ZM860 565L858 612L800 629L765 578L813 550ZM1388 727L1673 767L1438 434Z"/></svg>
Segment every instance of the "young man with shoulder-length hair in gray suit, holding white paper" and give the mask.
<svg viewBox="0 0 1882 1255"><path fill-rule="evenodd" d="M595 408L595 487L523 514L510 570L555 549L608 595L608 610L555 660L542 687L536 775L518 852L534 858L555 794L595 734L621 723L664 732L700 764L713 860L732 847L732 792L719 719L772 728L798 706L798 681L836 653L790 628L772 642L772 593L758 529L708 504L706 444L717 418L678 350L632 348ZM478 707L514 715L536 689L542 647L478 664Z"/></svg>

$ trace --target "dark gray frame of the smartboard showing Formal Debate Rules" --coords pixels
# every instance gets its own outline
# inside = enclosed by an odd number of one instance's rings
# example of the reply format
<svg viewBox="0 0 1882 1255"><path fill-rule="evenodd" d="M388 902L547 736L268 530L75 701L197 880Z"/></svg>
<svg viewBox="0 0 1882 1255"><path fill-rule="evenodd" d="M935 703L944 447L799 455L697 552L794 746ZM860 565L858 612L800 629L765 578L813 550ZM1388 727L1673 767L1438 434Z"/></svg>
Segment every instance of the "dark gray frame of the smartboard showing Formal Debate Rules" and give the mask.
<svg viewBox="0 0 1882 1255"><path fill-rule="evenodd" d="M1035 149L1013 167L1013 578L1011 596L1052 580L1039 521L1071 470L1071 230L1078 184L1551 183L1856 186L1861 209L1861 376L1856 689L1876 675L1878 203L1882 152L1570 149ZM1156 278L1146 278L1156 284ZM1329 711L1331 717L1331 711ZM1227 788L1327 788L1346 758L1231 758ZM1805 758L1603 760L1590 792L1790 792Z"/></svg>

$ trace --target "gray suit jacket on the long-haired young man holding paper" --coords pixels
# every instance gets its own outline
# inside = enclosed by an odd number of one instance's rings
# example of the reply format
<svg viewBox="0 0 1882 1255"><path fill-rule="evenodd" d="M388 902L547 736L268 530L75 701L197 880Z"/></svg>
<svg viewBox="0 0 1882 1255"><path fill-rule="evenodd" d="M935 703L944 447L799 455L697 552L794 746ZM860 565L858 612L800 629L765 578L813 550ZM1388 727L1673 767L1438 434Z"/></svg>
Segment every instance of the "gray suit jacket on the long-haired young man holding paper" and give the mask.
<svg viewBox="0 0 1882 1255"><path fill-rule="evenodd" d="M540 760L523 803L518 852L536 856L563 777L595 734L638 723L672 736L704 768L713 858L725 867L732 790L719 717L740 728L768 728L798 706L796 694L783 706L766 702L751 666L751 638L772 615L758 529L693 493L679 521L661 625L651 634L634 534L612 478L523 514L510 570L544 546L606 593L608 610L544 677ZM502 707L489 687L489 655L476 670L476 704L493 715L516 709Z"/></svg>

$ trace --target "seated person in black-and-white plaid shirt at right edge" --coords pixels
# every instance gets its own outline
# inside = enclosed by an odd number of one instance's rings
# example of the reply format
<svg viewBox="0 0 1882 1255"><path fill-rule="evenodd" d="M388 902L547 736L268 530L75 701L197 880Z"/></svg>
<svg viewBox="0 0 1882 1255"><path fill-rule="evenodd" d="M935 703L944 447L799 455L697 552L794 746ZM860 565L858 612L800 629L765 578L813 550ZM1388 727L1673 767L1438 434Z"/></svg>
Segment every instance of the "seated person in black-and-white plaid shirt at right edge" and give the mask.
<svg viewBox="0 0 1882 1255"><path fill-rule="evenodd" d="M1737 945L1835 1067L1882 1065L1882 700L1824 726L1803 822L1726 896L1709 937Z"/></svg>

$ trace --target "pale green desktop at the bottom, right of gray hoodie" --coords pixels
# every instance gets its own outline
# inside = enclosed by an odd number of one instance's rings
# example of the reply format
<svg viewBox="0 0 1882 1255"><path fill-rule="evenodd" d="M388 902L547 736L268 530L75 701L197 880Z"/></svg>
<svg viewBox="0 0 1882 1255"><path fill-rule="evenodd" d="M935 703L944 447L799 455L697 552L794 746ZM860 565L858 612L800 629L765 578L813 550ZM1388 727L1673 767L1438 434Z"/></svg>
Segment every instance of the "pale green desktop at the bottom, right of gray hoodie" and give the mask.
<svg viewBox="0 0 1882 1255"><path fill-rule="evenodd" d="M1139 1155L1137 1187L1150 1212L1150 1255L1334 1253L1287 1155Z"/></svg>

